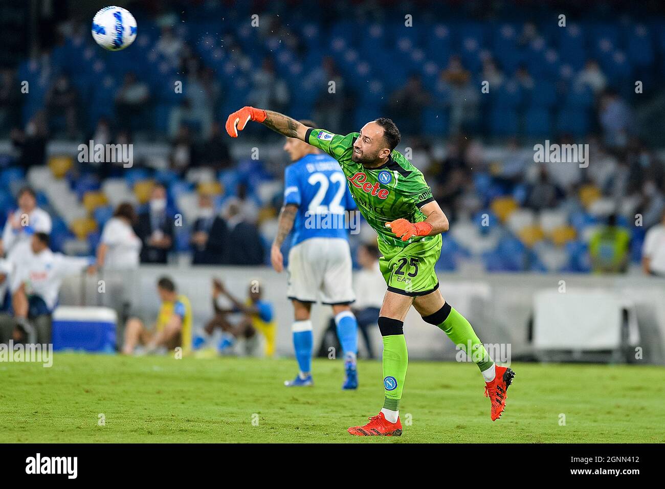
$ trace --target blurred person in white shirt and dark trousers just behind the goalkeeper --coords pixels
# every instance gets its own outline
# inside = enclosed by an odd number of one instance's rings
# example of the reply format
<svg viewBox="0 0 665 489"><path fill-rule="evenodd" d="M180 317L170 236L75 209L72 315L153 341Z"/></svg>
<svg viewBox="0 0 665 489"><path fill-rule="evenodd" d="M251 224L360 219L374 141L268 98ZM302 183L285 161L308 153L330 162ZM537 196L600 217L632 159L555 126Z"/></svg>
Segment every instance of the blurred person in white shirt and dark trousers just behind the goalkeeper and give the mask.
<svg viewBox="0 0 665 489"><path fill-rule="evenodd" d="M353 313L358 321L358 328L367 347L370 358L374 358L369 328L376 325L378 313L386 294L386 281L378 266L379 251L374 244L362 244L358 247L358 263L362 267L353 274L356 302Z"/></svg>

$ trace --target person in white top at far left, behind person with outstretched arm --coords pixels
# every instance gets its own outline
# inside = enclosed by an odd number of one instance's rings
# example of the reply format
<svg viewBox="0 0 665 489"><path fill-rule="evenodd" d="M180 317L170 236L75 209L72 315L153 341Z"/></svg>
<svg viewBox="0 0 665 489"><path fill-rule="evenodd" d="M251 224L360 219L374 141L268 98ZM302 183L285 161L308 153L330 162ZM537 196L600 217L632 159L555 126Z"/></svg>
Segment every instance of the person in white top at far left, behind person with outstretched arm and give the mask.
<svg viewBox="0 0 665 489"><path fill-rule="evenodd" d="M19 243L29 243L35 233L51 234L51 216L37 207L37 196L30 187L19 190L19 208L7 218L0 242L0 254L9 256Z"/></svg>

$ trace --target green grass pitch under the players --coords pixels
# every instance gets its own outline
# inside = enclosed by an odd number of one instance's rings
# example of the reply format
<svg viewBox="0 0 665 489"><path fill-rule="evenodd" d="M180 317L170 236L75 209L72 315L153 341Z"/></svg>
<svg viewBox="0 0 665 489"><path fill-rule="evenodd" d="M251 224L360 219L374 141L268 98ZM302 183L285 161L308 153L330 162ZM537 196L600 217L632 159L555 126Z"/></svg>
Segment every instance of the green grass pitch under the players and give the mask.
<svg viewBox="0 0 665 489"><path fill-rule="evenodd" d="M471 363L412 361L395 438L350 436L382 407L381 363L317 359L315 386L287 388L293 359L56 354L53 367L0 363L3 442L665 442L665 369L513 363L501 419L489 419ZM100 425L100 414L104 424ZM565 425L561 422L565 416Z"/></svg>

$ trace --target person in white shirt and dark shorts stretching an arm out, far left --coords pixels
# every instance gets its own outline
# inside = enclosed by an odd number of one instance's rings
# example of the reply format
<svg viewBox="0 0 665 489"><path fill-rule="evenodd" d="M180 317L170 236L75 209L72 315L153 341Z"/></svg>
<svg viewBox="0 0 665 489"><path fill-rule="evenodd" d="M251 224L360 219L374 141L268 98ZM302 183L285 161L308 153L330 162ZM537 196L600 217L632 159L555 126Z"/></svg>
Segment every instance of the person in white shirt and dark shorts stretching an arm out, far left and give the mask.
<svg viewBox="0 0 665 489"><path fill-rule="evenodd" d="M95 273L94 257L53 253L49 235L35 233L29 242L16 245L8 259L14 267L9 289L17 333L29 343L51 343L51 313L63 279L86 267Z"/></svg>

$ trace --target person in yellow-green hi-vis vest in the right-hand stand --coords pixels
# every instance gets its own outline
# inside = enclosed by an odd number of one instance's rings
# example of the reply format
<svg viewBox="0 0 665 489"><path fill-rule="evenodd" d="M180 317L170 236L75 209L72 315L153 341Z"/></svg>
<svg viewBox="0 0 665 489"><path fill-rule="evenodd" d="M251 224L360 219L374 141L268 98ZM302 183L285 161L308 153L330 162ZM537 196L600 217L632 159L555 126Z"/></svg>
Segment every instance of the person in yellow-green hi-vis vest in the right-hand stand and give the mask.
<svg viewBox="0 0 665 489"><path fill-rule="evenodd" d="M591 236L589 255L594 273L625 273L628 268L630 233L617 226L616 214L607 218L603 226Z"/></svg>

